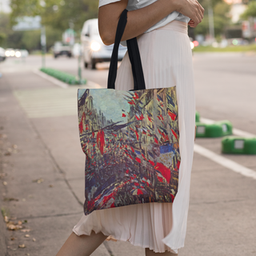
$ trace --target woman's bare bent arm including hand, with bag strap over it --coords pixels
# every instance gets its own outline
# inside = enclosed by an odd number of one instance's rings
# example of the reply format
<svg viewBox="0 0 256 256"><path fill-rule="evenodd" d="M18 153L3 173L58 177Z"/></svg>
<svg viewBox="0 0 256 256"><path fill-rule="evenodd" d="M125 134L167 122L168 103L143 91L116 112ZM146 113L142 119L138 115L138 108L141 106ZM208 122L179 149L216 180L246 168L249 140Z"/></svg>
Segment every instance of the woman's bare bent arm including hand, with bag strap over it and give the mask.
<svg viewBox="0 0 256 256"><path fill-rule="evenodd" d="M98 29L106 45L114 43L118 20L122 11L126 9L127 3L128 0L121 0L99 8ZM202 21L204 9L197 0L158 0L150 6L128 12L122 41L144 33L174 10L190 17L194 21L192 26L197 26Z"/></svg>

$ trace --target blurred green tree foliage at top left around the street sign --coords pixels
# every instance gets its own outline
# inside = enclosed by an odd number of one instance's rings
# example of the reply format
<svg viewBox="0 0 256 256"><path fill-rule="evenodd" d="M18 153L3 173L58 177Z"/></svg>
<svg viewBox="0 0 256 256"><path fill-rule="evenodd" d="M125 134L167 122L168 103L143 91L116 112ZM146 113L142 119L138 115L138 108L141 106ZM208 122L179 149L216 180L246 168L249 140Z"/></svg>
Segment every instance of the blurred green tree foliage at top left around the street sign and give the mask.
<svg viewBox="0 0 256 256"><path fill-rule="evenodd" d="M10 24L23 16L42 17L42 25L46 26L47 49L56 41L62 41L62 33L72 28L80 34L83 23L90 18L98 17L98 1L95 0L10 0L12 13ZM0 25L1 26L1 25ZM11 38L11 42L9 40ZM40 49L40 32L13 32L8 36L8 47Z"/></svg>

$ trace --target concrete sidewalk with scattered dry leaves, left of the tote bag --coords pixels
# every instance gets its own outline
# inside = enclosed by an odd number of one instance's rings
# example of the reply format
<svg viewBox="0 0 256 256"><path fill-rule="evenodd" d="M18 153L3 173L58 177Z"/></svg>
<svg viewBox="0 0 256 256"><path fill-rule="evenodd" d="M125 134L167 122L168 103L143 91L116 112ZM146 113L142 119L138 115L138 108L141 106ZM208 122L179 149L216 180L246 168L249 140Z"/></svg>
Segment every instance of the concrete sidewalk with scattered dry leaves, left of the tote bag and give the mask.
<svg viewBox="0 0 256 256"><path fill-rule="evenodd" d="M31 79L33 74L29 76ZM21 77L26 78L8 74L0 87L0 171L5 184L1 186L1 208L9 224L14 222L14 229L22 222L18 230L6 230L1 218L0 255L7 255L6 250L8 255L55 255L82 217L84 156L78 134L70 131L74 128L70 126L77 125L75 116L27 118L13 94L17 80L20 88L26 88L27 79ZM34 79L37 90L48 86L54 90L46 80ZM94 255L114 254L107 243Z"/></svg>

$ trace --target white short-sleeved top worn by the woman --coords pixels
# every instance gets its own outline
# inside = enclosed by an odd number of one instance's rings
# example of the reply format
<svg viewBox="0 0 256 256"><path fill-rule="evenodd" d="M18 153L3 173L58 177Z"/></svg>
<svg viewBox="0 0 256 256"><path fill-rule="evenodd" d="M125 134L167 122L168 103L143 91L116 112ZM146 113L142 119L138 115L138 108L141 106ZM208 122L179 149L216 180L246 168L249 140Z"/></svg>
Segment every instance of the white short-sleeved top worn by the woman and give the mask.
<svg viewBox="0 0 256 256"><path fill-rule="evenodd" d="M121 0L99 0L98 7L105 6L111 2L118 2L118 1L121 1ZM129 0L126 9L127 10L141 9L145 6L149 6L150 4L156 1L158 0ZM146 30L146 32L150 32L152 30L158 29L158 27L161 27L161 26L166 26L166 24L174 20L188 23L190 21L190 18L179 13L178 11L173 11L168 16L166 16L166 18L163 18L160 22L156 23L154 26L151 26L149 30Z"/></svg>

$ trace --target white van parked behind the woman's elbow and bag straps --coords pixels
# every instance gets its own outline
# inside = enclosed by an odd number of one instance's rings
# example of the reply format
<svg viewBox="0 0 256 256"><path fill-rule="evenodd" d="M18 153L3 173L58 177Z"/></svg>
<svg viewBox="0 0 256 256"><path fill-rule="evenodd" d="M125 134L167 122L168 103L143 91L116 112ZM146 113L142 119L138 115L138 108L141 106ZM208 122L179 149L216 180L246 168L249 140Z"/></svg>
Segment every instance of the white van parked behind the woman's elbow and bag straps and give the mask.
<svg viewBox="0 0 256 256"><path fill-rule="evenodd" d="M98 18L87 20L81 33L82 58L84 66L89 65L92 69L96 68L98 62L110 62L114 45L106 46L98 33ZM121 61L126 54L126 47L119 46L118 61Z"/></svg>

